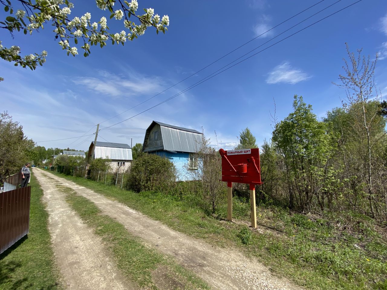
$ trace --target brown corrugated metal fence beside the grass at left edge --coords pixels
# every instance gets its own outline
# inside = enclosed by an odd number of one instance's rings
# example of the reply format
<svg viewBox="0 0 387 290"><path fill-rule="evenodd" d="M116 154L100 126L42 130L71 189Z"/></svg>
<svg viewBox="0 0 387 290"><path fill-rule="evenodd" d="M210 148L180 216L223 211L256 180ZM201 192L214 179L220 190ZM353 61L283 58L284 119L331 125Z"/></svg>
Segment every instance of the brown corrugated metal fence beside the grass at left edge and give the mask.
<svg viewBox="0 0 387 290"><path fill-rule="evenodd" d="M31 187L0 193L0 254L28 234Z"/></svg>

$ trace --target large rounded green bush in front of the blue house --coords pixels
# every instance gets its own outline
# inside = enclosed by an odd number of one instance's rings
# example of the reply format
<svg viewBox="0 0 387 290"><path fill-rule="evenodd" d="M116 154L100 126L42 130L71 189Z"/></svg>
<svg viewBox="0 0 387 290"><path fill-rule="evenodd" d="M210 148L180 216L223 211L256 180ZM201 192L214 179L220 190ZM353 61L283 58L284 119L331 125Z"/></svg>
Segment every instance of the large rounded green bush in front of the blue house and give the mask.
<svg viewBox="0 0 387 290"><path fill-rule="evenodd" d="M170 192L176 181L176 168L168 159L142 154L132 165L127 188L136 192Z"/></svg>

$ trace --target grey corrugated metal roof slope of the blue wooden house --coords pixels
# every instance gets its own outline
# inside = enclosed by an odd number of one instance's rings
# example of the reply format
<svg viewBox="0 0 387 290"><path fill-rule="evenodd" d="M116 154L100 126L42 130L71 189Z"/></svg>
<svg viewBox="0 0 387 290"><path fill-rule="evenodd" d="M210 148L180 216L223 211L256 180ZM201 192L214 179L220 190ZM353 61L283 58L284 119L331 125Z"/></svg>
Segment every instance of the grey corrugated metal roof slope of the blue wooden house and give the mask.
<svg viewBox="0 0 387 290"><path fill-rule="evenodd" d="M183 131L161 125L164 150L197 153L200 149L202 133Z"/></svg>

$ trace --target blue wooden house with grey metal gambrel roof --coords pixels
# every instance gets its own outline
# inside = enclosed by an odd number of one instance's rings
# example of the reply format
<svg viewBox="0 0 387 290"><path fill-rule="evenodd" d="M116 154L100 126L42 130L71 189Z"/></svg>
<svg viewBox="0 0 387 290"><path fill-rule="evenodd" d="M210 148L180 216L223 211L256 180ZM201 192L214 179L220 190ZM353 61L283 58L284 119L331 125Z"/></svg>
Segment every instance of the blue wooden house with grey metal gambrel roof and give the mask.
<svg viewBox="0 0 387 290"><path fill-rule="evenodd" d="M203 133L152 121L146 130L142 151L168 158L175 164L178 180L197 179L199 152Z"/></svg>

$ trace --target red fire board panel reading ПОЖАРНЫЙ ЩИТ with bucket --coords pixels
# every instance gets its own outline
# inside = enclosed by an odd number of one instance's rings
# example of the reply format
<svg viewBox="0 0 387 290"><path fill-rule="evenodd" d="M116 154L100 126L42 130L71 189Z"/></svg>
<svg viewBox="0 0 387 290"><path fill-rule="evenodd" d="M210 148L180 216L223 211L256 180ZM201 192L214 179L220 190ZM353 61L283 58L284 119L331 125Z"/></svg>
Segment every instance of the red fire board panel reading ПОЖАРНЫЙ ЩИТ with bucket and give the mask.
<svg viewBox="0 0 387 290"><path fill-rule="evenodd" d="M219 150L222 157L222 181L262 184L259 148Z"/></svg>

